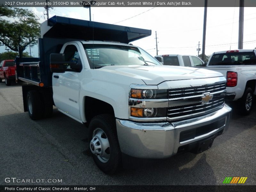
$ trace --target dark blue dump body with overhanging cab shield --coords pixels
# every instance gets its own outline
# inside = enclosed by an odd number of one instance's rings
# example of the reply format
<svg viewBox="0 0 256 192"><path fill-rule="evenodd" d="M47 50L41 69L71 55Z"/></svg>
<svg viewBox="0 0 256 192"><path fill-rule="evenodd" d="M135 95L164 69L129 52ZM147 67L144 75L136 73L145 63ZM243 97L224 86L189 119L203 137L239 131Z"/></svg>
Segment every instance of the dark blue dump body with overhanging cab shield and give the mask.
<svg viewBox="0 0 256 192"><path fill-rule="evenodd" d="M87 20L53 16L41 25L39 58L17 58L17 78L30 84L52 86L50 54L60 53L66 42L74 40L130 43L151 35L151 30ZM42 84L41 84L42 85Z"/></svg>

